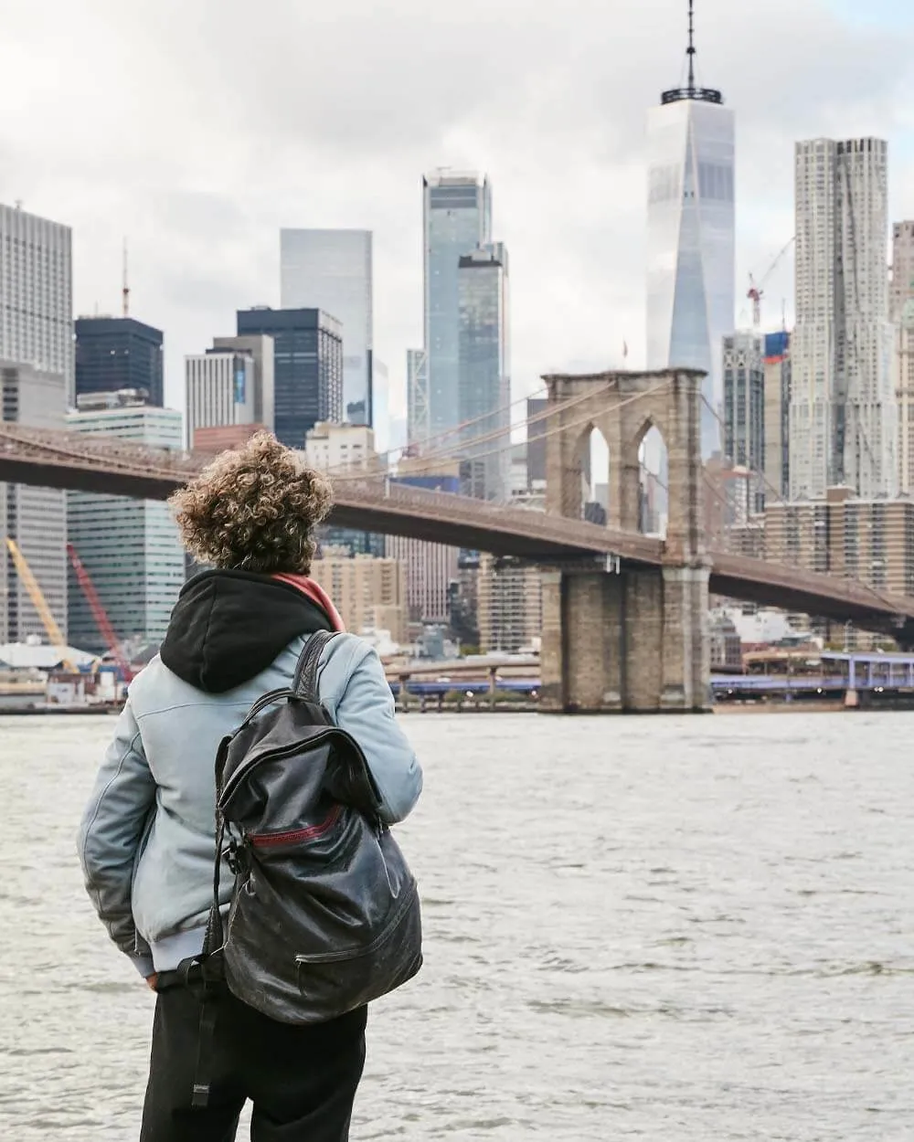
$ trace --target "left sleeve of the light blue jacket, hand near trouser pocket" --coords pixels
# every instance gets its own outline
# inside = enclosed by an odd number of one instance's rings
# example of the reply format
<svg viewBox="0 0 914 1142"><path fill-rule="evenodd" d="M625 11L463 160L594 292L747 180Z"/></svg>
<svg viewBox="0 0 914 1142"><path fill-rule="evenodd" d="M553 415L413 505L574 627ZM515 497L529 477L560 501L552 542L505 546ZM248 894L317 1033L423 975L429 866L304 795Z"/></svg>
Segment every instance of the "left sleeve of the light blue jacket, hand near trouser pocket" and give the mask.
<svg viewBox="0 0 914 1142"><path fill-rule="evenodd" d="M128 698L82 814L79 856L98 918L143 976L153 973L152 956L134 926L130 892L144 827L154 806L155 780Z"/></svg>

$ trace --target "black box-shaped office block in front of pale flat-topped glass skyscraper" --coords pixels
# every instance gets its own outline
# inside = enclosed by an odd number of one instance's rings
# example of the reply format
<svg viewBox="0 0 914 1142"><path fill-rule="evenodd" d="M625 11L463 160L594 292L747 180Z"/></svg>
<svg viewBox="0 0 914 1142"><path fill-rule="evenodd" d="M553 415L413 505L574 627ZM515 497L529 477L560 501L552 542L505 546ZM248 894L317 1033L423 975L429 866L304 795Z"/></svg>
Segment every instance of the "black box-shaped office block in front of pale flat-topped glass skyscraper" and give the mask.
<svg viewBox="0 0 914 1142"><path fill-rule="evenodd" d="M304 448L319 420L343 420L343 330L321 309L239 309L238 335L273 338L273 431Z"/></svg>

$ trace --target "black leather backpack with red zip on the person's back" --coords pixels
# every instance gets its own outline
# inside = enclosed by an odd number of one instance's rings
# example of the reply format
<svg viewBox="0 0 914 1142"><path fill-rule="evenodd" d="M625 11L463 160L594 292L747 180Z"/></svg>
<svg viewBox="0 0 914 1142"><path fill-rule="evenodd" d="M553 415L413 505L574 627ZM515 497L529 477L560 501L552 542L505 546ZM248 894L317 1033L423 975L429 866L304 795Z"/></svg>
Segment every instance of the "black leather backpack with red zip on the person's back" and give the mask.
<svg viewBox="0 0 914 1142"><path fill-rule="evenodd" d="M256 702L216 758L203 974L283 1023L335 1019L422 966L416 882L378 817L359 743L318 701L318 665L334 637L308 638L294 689ZM224 925L222 856L235 874Z"/></svg>

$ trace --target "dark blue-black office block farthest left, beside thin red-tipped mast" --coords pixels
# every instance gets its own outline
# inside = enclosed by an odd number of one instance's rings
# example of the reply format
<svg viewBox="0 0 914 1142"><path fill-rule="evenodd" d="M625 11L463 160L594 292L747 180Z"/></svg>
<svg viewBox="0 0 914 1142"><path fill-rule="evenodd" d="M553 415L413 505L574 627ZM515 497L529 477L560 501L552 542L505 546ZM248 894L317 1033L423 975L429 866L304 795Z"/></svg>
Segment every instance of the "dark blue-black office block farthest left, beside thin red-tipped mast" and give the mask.
<svg viewBox="0 0 914 1142"><path fill-rule="evenodd" d="M136 317L78 317L77 396L134 389L165 403L162 331Z"/></svg>

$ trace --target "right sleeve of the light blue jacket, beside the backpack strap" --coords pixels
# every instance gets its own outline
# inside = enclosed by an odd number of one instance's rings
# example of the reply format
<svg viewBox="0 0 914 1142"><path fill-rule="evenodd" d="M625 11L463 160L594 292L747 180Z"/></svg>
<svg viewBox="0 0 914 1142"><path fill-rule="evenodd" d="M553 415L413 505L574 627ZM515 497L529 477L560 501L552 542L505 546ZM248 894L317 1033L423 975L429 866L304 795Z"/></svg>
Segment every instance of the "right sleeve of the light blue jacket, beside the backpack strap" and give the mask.
<svg viewBox="0 0 914 1142"><path fill-rule="evenodd" d="M346 642L352 657L340 676L340 692L324 695L321 690L321 698L339 729L362 747L380 794L380 817L394 825L408 817L419 799L422 767L394 717L393 694L380 659L361 640ZM345 653L340 658L345 659Z"/></svg>

